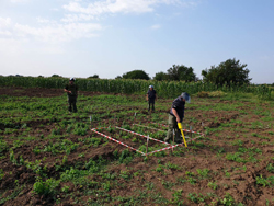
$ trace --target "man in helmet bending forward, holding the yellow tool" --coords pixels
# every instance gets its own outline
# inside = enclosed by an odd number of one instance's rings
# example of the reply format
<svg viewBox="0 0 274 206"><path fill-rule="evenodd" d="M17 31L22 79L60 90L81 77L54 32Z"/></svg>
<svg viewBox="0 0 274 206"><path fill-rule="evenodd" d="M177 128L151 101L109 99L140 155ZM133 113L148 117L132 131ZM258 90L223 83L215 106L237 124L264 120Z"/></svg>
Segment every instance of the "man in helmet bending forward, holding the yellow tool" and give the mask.
<svg viewBox="0 0 274 206"><path fill-rule="evenodd" d="M178 128L178 123L183 122L185 102L191 103L191 96L186 92L183 92L172 102L172 106L169 113L169 130L164 139L165 142L169 142L169 140L172 139L174 129L175 130L174 141L176 144L182 144L182 138L180 137L180 129Z"/></svg>

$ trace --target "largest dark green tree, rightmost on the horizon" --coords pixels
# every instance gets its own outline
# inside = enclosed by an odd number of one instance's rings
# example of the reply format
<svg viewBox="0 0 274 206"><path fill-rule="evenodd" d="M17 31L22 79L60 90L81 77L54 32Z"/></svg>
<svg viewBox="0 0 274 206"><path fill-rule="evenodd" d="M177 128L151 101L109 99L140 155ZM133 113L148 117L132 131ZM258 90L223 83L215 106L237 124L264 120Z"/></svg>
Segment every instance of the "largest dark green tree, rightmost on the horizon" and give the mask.
<svg viewBox="0 0 274 206"><path fill-rule="evenodd" d="M213 82L218 85L230 83L249 83L249 69L244 69L246 64L241 65L240 60L228 59L225 62L220 62L217 67L212 66L210 69L202 70L203 80L205 82Z"/></svg>

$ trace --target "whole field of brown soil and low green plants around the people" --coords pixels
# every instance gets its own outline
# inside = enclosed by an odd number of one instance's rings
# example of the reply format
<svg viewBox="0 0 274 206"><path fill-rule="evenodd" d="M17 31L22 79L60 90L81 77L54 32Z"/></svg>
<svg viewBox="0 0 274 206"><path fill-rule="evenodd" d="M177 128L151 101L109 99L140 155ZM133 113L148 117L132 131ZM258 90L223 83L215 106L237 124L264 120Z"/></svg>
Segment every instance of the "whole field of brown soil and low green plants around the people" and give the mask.
<svg viewBox="0 0 274 206"><path fill-rule="evenodd" d="M274 102L192 95L161 150L175 98L2 87L0 205L274 205Z"/></svg>

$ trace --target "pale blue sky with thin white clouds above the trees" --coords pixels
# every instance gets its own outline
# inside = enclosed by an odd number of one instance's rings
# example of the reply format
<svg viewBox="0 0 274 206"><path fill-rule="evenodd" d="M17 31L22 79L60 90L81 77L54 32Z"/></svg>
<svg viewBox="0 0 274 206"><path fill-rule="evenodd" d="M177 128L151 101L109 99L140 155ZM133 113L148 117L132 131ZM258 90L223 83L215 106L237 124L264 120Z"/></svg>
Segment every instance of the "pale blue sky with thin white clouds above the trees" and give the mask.
<svg viewBox="0 0 274 206"><path fill-rule="evenodd" d="M227 59L274 83L274 0L0 0L0 75L197 77Z"/></svg>

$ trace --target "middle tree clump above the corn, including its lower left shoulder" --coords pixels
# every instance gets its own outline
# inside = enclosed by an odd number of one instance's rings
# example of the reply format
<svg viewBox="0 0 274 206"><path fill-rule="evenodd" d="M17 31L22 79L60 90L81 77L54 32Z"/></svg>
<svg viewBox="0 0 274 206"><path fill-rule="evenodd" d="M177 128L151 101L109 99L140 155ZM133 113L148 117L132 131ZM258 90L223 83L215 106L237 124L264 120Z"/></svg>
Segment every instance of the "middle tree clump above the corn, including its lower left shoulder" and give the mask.
<svg viewBox="0 0 274 206"><path fill-rule="evenodd" d="M198 78L194 73L192 67L185 67L184 65L173 65L171 68L168 69L167 73L158 72L156 73L155 80L162 81L162 80L171 80L171 81L197 81Z"/></svg>

